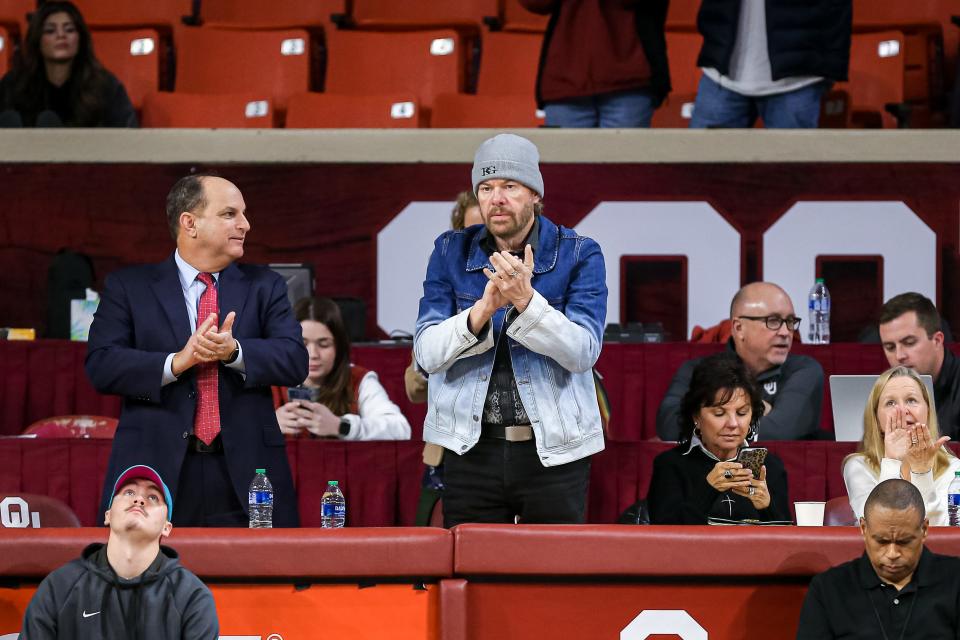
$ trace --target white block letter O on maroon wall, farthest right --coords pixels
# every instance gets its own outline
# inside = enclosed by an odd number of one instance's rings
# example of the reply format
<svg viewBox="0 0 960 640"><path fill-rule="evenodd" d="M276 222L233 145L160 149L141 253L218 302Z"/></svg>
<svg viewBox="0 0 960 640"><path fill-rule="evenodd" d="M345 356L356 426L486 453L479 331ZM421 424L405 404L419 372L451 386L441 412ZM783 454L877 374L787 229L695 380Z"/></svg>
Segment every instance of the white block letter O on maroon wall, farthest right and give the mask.
<svg viewBox="0 0 960 640"><path fill-rule="evenodd" d="M806 321L818 255L877 254L884 300L916 291L937 302L937 235L902 202L796 203L763 234L763 279L783 287Z"/></svg>

